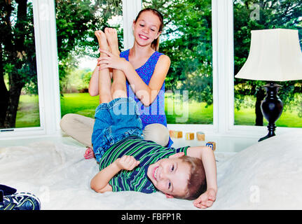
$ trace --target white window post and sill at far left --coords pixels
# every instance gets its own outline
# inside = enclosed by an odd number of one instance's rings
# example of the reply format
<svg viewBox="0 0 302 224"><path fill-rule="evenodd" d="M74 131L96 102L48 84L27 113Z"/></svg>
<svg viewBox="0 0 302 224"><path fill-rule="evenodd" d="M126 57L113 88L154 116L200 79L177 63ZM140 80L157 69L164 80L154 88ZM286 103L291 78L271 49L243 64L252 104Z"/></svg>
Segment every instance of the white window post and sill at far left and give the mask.
<svg viewBox="0 0 302 224"><path fill-rule="evenodd" d="M40 127L2 130L1 139L51 136L60 130L60 85L57 62L55 1L33 0ZM12 131L10 131L12 130Z"/></svg>

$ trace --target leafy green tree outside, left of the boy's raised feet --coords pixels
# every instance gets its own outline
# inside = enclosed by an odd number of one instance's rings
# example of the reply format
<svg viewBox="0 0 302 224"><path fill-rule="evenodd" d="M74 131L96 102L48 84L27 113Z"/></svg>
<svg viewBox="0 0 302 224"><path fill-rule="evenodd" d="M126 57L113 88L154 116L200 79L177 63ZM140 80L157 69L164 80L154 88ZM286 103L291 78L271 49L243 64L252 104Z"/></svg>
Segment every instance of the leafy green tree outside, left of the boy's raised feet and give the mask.
<svg viewBox="0 0 302 224"><path fill-rule="evenodd" d="M60 79L67 71L76 68L76 57L97 57L95 30L109 26L113 15L122 15L121 0L71 1L56 0L57 52ZM123 46L123 34L118 33L119 46Z"/></svg>

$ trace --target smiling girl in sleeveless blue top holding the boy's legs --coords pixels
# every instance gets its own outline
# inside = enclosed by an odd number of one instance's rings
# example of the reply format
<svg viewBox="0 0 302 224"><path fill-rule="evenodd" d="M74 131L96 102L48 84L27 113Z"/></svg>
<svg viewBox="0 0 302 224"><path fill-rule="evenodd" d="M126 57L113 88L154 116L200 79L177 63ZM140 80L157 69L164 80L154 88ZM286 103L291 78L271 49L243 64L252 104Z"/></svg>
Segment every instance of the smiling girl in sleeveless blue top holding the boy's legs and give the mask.
<svg viewBox="0 0 302 224"><path fill-rule="evenodd" d="M107 29L107 33L109 33ZM140 118L143 124L144 139L154 139L154 135L157 128L161 126L167 126L167 119L165 116L165 77L167 71L170 68L170 58L162 53L158 52L159 36L163 30L163 15L158 10L152 8L145 8L139 12L137 18L132 24L132 30L135 37L135 43L133 47L121 52L120 57L118 55L109 52L109 50L100 49L101 56L98 59L98 65L95 68L92 78L98 78L99 69L118 69L123 71L127 78L127 93L128 97L132 97L138 102L140 106ZM106 30L105 30L106 31ZM108 39L109 40L109 39ZM109 41L110 48L110 41ZM94 79L95 80L95 79ZM93 82L97 83L97 82ZM91 86L89 90L90 94L97 95L98 89L96 86ZM83 116L74 115L74 119L71 115L66 115L62 118L61 127L67 134L74 132L74 128L66 128L71 124L75 124L74 121L81 123L85 126L81 129L90 130L91 137L93 122L83 118ZM85 125L85 123L89 124ZM79 125L79 126L81 126ZM69 129L69 130L67 130ZM69 132L68 132L69 131ZM69 134L74 137L75 134ZM83 132L81 133L83 137ZM152 137L152 138L151 138ZM75 137L74 137L75 138ZM156 142L163 146L170 147L172 140L167 134L165 137L155 137ZM75 138L76 139L76 138ZM77 139L81 140L81 139ZM90 138L91 141L91 138ZM83 141L81 141L83 143ZM91 143L85 145L91 147ZM90 158L91 150L86 151L85 158Z"/></svg>

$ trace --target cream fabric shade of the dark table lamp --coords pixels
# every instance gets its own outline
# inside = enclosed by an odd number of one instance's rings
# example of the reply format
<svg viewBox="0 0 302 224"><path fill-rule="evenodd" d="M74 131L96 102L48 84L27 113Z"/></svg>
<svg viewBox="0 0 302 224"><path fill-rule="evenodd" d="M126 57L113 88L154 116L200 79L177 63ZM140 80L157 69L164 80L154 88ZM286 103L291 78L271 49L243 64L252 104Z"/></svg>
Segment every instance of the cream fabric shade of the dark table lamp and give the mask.
<svg viewBox="0 0 302 224"><path fill-rule="evenodd" d="M298 30L252 30L249 57L235 78L267 81L302 79Z"/></svg>

